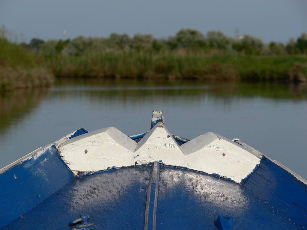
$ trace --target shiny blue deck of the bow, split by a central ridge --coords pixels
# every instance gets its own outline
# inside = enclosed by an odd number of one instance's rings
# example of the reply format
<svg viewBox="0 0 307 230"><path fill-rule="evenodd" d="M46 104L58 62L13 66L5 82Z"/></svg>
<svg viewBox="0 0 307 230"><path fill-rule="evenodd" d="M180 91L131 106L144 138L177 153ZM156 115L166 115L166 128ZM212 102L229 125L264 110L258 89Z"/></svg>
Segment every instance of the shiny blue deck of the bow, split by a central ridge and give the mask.
<svg viewBox="0 0 307 230"><path fill-rule="evenodd" d="M73 179L3 229L70 229L68 222L80 213L90 214L97 229L144 229L152 167L112 169ZM297 217L299 221L285 215L299 210L271 206L250 187L188 169L159 167L158 190L152 191L153 197L157 192L157 210L147 217L150 229L153 215L156 229L216 229L220 214L233 217L234 229L300 229L306 224L304 217Z"/></svg>

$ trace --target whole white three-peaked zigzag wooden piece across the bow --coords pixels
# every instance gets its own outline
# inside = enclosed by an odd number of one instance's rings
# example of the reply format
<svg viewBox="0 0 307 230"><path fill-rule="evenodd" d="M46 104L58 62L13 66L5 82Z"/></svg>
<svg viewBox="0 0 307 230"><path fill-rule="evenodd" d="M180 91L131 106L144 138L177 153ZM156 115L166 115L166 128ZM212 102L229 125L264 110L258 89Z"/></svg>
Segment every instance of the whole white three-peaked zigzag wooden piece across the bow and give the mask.
<svg viewBox="0 0 307 230"><path fill-rule="evenodd" d="M241 182L260 162L251 151L212 132L179 146L162 122L138 144L109 127L73 138L58 150L75 174L160 161Z"/></svg>

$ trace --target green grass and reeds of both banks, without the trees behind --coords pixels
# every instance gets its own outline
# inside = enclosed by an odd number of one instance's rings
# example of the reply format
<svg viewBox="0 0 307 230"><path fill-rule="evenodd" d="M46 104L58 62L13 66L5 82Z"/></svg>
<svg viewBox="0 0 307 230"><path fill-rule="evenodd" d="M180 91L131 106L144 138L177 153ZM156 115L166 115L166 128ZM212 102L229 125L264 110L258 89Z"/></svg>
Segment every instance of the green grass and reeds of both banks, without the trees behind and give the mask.
<svg viewBox="0 0 307 230"><path fill-rule="evenodd" d="M52 73L50 72L52 71ZM221 50L87 49L34 53L0 39L0 91L50 85L59 78L305 81L307 56L256 56Z"/></svg>

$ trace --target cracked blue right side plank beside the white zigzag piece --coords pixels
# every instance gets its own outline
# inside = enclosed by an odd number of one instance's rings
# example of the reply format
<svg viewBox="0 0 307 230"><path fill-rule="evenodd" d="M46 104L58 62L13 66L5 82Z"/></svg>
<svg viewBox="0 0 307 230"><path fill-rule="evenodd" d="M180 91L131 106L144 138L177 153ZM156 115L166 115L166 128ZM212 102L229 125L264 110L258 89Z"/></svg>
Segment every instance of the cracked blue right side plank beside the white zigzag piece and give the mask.
<svg viewBox="0 0 307 230"><path fill-rule="evenodd" d="M243 186L298 226L307 228L307 185L290 172L264 157Z"/></svg>

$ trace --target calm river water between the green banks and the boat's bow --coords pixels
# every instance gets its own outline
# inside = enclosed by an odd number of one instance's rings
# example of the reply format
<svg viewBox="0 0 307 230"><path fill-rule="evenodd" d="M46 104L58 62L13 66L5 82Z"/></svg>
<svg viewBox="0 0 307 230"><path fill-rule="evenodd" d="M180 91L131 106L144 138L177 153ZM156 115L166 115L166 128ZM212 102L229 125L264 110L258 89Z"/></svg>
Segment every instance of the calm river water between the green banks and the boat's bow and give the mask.
<svg viewBox="0 0 307 230"><path fill-rule="evenodd" d="M173 134L240 138L307 178L307 92L277 83L58 80L0 97L0 168L73 130L148 131L163 110Z"/></svg>

